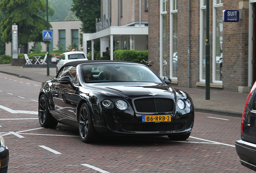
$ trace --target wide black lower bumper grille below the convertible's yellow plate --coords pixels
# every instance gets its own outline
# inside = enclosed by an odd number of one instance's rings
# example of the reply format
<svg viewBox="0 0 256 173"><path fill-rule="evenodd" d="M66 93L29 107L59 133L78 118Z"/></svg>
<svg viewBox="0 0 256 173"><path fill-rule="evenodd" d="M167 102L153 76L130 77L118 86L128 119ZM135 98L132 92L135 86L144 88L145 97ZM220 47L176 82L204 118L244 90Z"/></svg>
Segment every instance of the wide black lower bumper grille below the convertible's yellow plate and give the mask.
<svg viewBox="0 0 256 173"><path fill-rule="evenodd" d="M169 132L181 131L184 129L184 123L168 124L122 124L124 131L130 132Z"/></svg>

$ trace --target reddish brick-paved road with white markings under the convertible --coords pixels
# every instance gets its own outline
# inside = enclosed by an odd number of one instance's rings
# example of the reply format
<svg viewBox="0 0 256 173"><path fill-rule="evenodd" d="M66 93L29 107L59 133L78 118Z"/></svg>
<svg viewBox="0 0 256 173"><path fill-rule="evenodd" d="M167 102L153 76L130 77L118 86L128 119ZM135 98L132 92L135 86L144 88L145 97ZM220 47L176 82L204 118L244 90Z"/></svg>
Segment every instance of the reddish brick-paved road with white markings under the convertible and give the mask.
<svg viewBox="0 0 256 173"><path fill-rule="evenodd" d="M38 115L33 114L37 111L39 82L0 76L0 132L10 151L8 173L253 172L239 163L235 152L240 118L196 113L194 129L186 141L103 137L97 143L85 144L72 127L59 124L56 129L41 128ZM6 111L6 107L13 111Z"/></svg>

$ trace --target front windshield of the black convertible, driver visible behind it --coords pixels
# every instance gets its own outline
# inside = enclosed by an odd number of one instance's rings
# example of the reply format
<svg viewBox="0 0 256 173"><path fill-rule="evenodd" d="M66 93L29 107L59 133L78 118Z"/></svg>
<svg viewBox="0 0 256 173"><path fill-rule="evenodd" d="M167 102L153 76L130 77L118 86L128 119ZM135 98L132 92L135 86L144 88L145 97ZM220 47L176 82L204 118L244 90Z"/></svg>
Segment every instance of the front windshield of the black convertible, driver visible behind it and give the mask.
<svg viewBox="0 0 256 173"><path fill-rule="evenodd" d="M147 66L140 64L93 64L81 67L85 82L161 82Z"/></svg>

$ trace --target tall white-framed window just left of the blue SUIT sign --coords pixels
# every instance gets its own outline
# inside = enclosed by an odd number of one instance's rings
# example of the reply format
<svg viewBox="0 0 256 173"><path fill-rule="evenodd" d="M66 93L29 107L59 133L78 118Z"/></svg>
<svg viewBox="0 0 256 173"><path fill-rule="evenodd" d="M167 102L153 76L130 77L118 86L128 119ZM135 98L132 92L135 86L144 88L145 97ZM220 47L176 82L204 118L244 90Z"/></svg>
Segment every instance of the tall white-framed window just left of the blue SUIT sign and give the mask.
<svg viewBox="0 0 256 173"><path fill-rule="evenodd" d="M222 83L222 45L223 45L223 4L221 0L213 4L213 83Z"/></svg>

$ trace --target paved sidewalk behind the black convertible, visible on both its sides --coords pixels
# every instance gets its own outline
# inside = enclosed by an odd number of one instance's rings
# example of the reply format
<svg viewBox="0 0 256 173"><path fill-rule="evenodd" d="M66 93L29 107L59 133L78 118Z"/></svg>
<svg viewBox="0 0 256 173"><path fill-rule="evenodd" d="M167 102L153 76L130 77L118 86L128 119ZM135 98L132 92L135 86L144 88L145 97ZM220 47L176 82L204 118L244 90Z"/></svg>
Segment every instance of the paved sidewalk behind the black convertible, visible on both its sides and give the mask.
<svg viewBox="0 0 256 173"><path fill-rule="evenodd" d="M43 82L54 78L56 75L56 68L49 68L50 76L47 76L47 68L23 68L21 66L11 66L11 64L0 64L0 73ZM186 91L191 96L196 112L213 113L232 117L242 117L244 105L248 96L248 93L211 89L210 100L205 100L204 89L186 87L177 87L177 89Z"/></svg>

